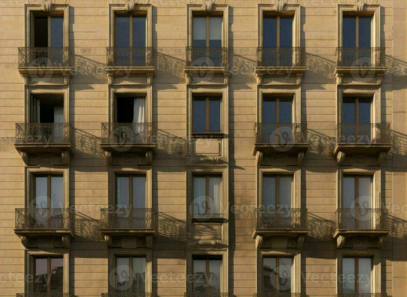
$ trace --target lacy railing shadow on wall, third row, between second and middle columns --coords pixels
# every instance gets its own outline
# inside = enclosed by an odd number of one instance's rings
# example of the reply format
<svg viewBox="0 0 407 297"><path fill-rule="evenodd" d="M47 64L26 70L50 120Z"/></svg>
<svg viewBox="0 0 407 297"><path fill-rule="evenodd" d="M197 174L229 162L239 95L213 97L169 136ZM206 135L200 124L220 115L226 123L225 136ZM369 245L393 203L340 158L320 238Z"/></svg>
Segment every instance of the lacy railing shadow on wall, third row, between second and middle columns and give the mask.
<svg viewBox="0 0 407 297"><path fill-rule="evenodd" d="M186 242L186 221L158 212L158 237L165 241Z"/></svg>

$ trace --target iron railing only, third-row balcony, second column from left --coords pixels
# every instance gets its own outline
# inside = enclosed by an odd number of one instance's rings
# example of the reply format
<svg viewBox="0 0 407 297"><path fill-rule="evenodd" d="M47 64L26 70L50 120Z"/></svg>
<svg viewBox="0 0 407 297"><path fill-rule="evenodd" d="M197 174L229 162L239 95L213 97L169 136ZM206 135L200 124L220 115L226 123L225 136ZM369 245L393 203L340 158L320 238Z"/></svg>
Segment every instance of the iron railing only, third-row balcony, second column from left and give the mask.
<svg viewBox="0 0 407 297"><path fill-rule="evenodd" d="M101 229L154 229L153 208L102 208Z"/></svg>

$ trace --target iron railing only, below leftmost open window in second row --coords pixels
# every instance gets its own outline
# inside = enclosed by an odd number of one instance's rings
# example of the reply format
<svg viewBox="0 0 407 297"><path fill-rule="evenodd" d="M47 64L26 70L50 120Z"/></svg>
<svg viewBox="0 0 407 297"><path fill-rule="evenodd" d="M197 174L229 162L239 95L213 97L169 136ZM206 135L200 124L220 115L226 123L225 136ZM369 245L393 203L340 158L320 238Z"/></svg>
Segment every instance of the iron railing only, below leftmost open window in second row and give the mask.
<svg viewBox="0 0 407 297"><path fill-rule="evenodd" d="M15 143L17 144L70 143L71 135L70 123L15 124Z"/></svg>

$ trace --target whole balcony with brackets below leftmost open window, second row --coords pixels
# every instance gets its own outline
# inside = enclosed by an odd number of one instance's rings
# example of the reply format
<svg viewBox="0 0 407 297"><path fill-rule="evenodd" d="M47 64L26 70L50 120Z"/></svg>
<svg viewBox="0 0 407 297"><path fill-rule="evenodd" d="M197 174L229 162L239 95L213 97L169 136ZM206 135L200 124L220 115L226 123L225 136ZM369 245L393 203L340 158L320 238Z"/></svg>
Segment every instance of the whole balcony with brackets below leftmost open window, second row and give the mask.
<svg viewBox="0 0 407 297"><path fill-rule="evenodd" d="M70 123L17 123L15 124L15 148L29 165L29 154L62 154L63 164L68 165L74 155L71 144Z"/></svg>

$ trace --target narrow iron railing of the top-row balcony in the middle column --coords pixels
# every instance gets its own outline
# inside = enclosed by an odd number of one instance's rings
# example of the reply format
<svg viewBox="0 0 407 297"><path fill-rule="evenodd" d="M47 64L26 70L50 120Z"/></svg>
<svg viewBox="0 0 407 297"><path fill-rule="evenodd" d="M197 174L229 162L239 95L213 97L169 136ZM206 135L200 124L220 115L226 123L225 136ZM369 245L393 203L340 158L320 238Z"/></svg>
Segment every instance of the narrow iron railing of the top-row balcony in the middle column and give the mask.
<svg viewBox="0 0 407 297"><path fill-rule="evenodd" d="M186 47L186 66L226 67L228 65L228 48Z"/></svg>

